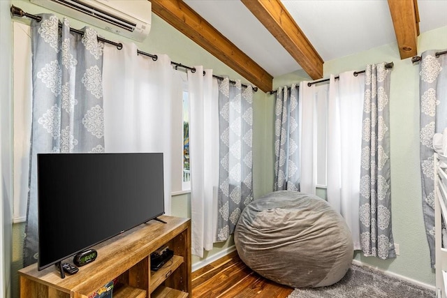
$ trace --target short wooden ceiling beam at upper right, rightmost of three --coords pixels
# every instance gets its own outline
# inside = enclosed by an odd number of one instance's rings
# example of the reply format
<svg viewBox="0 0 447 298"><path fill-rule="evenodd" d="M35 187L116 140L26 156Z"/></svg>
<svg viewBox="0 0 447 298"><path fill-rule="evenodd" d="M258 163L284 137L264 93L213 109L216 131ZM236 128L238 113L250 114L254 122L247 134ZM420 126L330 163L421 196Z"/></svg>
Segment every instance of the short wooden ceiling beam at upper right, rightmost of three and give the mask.
<svg viewBox="0 0 447 298"><path fill-rule="evenodd" d="M400 59L418 54L419 13L417 0L388 0Z"/></svg>

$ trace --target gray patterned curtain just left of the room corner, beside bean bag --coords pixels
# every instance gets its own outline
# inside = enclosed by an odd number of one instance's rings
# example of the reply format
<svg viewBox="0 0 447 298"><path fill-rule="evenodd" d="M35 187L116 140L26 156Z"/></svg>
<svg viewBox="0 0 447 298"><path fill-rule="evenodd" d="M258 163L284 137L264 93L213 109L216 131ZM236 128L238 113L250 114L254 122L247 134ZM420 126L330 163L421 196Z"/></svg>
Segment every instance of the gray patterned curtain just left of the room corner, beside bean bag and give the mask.
<svg viewBox="0 0 447 298"><path fill-rule="evenodd" d="M217 241L235 230L242 209L253 200L253 89L240 80L219 81L219 214Z"/></svg>

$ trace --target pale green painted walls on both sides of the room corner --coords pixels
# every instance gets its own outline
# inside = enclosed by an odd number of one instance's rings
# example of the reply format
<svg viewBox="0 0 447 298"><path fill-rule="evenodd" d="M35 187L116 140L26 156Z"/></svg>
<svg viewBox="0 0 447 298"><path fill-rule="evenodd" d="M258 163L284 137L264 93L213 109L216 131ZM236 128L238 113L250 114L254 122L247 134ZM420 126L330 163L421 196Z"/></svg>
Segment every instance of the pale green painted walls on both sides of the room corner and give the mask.
<svg viewBox="0 0 447 298"><path fill-rule="evenodd" d="M27 13L48 12L45 8L35 6L26 0L14 0L15 6ZM59 16L60 17L60 16ZM29 22L29 21L24 21ZM71 20L72 27L80 28L82 23ZM110 40L123 40L108 31L98 29L102 36ZM127 40L133 42L132 40ZM225 64L210 53L186 38L182 33L170 27L156 15L152 15L152 29L144 43L137 43L140 50L149 53L168 54L173 61L188 66L203 65L212 68L217 75L229 75L232 79L241 79ZM420 52L427 49L444 49L447 47L447 27L424 33L419 37ZM416 281L434 285L434 273L430 269L428 246L425 239L420 199L420 175L418 168L418 66L413 66L410 59L400 60L397 45L390 44L366 52L327 61L324 64L324 76L341 73L345 70L360 70L365 64L380 61L394 61L395 67L391 77L391 170L393 181L393 231L395 242L400 244L400 256L391 261L379 261L356 255L356 260L380 267L395 274L400 274ZM274 79L274 88L290 85L293 82L309 80L302 71L297 71ZM274 164L274 96L258 91L254 95L254 196L272 191ZM319 190L322 196L324 191ZM189 194L173 197L173 215L191 216ZM14 268L20 265L22 258L23 224L13 227L13 262ZM212 255L226 250L233 245L233 239L216 244L205 255ZM205 258L193 258L193 262ZM16 270L16 269L13 269ZM17 287L17 279L13 283ZM17 293L17 292L15 292ZM17 295L17 294L16 294ZM13 297L17 297L13 295Z"/></svg>

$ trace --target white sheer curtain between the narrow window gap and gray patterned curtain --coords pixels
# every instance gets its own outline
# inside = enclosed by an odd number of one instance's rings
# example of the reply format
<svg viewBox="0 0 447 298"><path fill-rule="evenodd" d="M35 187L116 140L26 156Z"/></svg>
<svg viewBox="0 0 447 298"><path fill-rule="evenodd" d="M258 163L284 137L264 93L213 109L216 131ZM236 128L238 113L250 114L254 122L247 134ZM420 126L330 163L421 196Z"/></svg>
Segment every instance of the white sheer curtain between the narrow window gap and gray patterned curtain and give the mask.
<svg viewBox="0 0 447 298"><path fill-rule="evenodd" d="M219 186L219 87L212 70L188 71L192 253L203 258L214 243Z"/></svg>

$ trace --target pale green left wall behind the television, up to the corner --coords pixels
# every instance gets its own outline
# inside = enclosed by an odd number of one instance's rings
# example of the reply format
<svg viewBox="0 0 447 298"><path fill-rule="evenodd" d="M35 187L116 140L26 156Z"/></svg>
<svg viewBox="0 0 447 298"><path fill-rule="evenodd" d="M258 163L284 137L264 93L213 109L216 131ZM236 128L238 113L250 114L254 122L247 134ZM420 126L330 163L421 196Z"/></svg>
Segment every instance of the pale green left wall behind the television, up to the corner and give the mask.
<svg viewBox="0 0 447 298"><path fill-rule="evenodd" d="M29 3L27 0L13 0L11 3L14 6L22 8L25 12L31 14L38 13L52 13L50 10L36 6ZM58 17L62 17L57 14ZM15 19L17 20L17 19ZM29 20L24 18L20 22L28 23ZM84 23L77 20L70 19L71 27L80 29L85 26ZM122 38L108 31L97 29L98 33L104 38L114 41L123 41L135 43L133 40ZM237 74L234 70L223 64L219 59L212 56L210 53L203 50L202 47L193 43L192 40L186 38L182 33L171 27L168 23L161 20L161 18L152 14L152 27L149 37L143 43L135 43L138 49L143 52L151 54L168 54L170 59L175 62L182 63L187 66L203 65L204 68L211 68L214 75L229 75L232 80L240 79L244 83L248 83L243 77ZM270 137L267 137L272 127L272 115L270 107L265 108L265 103L271 103L270 98L266 98L262 91L254 93L254 196L259 196L272 191L272 142ZM268 118L268 121L265 121ZM270 121L270 122L269 122ZM268 126L270 125L271 126ZM267 182L266 182L267 181ZM175 216L190 217L191 216L191 200L190 195L176 195L173 197L172 214ZM24 224L19 223L13 226L13 271L20 269L22 264L22 246L24 237ZM212 251L205 253L204 258L193 257L193 262L200 262L212 257L219 252L225 251L226 248L233 246L233 239L215 244ZM14 273L15 273L14 272ZM17 276L13 275L13 297L17 297L18 283Z"/></svg>

